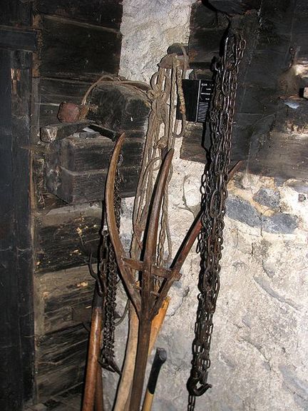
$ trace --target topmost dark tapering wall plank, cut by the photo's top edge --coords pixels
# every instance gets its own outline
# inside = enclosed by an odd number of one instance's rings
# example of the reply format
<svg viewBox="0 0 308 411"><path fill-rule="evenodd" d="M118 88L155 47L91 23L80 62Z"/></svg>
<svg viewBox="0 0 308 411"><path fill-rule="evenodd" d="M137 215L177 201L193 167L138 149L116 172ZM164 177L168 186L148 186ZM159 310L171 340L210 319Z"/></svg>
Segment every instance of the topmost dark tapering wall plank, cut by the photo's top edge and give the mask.
<svg viewBox="0 0 308 411"><path fill-rule="evenodd" d="M35 14L67 17L91 24L120 29L123 6L121 0L36 0Z"/></svg>

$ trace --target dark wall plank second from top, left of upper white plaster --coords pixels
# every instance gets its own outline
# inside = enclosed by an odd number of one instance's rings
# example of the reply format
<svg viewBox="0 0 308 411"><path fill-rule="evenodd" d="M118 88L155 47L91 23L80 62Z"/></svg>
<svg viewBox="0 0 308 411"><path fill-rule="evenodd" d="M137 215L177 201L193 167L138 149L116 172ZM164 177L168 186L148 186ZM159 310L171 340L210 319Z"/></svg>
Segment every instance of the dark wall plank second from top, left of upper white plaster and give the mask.
<svg viewBox="0 0 308 411"><path fill-rule="evenodd" d="M119 31L46 15L34 25L41 30L35 76L95 81L103 72L118 73Z"/></svg>

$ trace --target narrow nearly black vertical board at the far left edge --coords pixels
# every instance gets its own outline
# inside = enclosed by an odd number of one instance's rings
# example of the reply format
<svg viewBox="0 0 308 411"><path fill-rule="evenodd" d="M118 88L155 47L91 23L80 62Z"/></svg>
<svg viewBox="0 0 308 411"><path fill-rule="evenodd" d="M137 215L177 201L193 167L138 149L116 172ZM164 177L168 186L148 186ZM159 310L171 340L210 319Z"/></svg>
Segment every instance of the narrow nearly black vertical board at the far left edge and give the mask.
<svg viewBox="0 0 308 411"><path fill-rule="evenodd" d="M11 158L11 54L0 50L0 232L1 232L1 288L0 288L0 408L21 410L23 402L22 362L19 330L19 287L14 253L13 170Z"/></svg>

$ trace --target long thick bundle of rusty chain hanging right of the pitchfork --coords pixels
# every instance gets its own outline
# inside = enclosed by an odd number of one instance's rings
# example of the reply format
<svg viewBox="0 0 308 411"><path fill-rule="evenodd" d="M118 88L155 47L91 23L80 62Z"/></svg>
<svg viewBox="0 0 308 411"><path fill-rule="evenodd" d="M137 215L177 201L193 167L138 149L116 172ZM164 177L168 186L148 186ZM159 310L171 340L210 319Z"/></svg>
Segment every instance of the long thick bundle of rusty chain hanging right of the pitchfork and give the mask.
<svg viewBox="0 0 308 411"><path fill-rule="evenodd" d="M212 145L201 182L202 230L198 241L201 258L198 283L200 294L193 341L193 366L188 380L188 411L195 409L195 397L211 387L207 384L207 372L210 367L212 317L220 289L222 230L226 212L237 72L244 50L245 41L242 36L230 29L225 38L224 54L215 65L215 87L210 110Z"/></svg>

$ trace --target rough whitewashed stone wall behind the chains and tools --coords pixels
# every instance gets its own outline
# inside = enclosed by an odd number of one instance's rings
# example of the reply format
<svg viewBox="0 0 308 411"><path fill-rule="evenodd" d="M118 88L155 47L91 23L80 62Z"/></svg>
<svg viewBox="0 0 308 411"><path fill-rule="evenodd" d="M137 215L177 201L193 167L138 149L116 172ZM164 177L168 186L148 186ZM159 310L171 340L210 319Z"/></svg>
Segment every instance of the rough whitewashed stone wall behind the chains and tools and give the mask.
<svg viewBox="0 0 308 411"><path fill-rule="evenodd" d="M149 81L168 46L187 42L192 2L123 1L123 76ZM177 141L170 183L174 250L198 210L204 167L181 160L180 144ZM197 399L197 411L308 410L308 190L304 193L304 185L300 187L298 192L296 181L245 171L230 183L208 378L213 387ZM132 198L123 205L122 233L127 240L132 205ZM167 350L168 360L153 411L187 407L198 271L193 250L170 292L170 308L157 342ZM118 341L126 327L117 330ZM116 376L110 375L106 392L112 393L115 385Z"/></svg>

